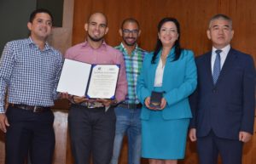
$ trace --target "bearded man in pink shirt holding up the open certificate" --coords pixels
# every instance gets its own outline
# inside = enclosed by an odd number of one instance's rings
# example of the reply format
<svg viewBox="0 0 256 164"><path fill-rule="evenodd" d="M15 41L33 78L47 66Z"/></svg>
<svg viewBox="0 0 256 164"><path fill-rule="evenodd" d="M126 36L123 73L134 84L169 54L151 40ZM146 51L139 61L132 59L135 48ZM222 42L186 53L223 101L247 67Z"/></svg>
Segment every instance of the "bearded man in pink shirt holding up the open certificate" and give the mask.
<svg viewBox="0 0 256 164"><path fill-rule="evenodd" d="M109 164L116 121L112 105L123 101L127 93L125 61L118 50L104 42L108 33L104 14L91 14L84 29L86 42L67 49L65 58L90 64L118 64L120 70L115 100L96 99L92 102L86 97L73 96L68 114L71 147L75 164L90 163L90 154L94 164Z"/></svg>

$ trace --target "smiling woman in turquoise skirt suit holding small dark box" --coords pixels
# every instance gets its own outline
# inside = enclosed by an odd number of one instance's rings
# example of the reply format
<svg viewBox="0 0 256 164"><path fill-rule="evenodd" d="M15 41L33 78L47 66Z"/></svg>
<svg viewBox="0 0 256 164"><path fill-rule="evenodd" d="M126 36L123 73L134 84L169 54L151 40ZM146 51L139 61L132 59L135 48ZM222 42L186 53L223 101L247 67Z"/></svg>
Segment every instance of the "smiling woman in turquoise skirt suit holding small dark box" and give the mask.
<svg viewBox="0 0 256 164"><path fill-rule="evenodd" d="M145 55L137 79L137 96L143 104L142 156L149 164L173 164L184 157L191 118L188 97L197 76L194 54L180 48L179 36L176 19L160 20L156 48ZM152 91L163 93L159 108L149 105Z"/></svg>

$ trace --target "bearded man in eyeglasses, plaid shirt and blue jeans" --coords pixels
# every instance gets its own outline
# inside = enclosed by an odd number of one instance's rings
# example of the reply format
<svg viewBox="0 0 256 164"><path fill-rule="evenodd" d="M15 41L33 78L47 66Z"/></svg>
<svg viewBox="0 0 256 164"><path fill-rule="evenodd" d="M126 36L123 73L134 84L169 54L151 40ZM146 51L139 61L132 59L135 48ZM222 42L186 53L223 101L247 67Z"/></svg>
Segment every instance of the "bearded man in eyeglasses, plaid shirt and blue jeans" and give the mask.
<svg viewBox="0 0 256 164"><path fill-rule="evenodd" d="M113 144L113 157L111 164L118 164L122 140L128 137L128 163L139 164L141 158L141 122L142 105L136 95L137 76L143 64L143 57L147 53L137 46L137 38L141 34L139 23L133 18L122 22L119 34L123 38L116 48L122 52L125 59L128 94L123 103L114 110L117 117L116 131Z"/></svg>

